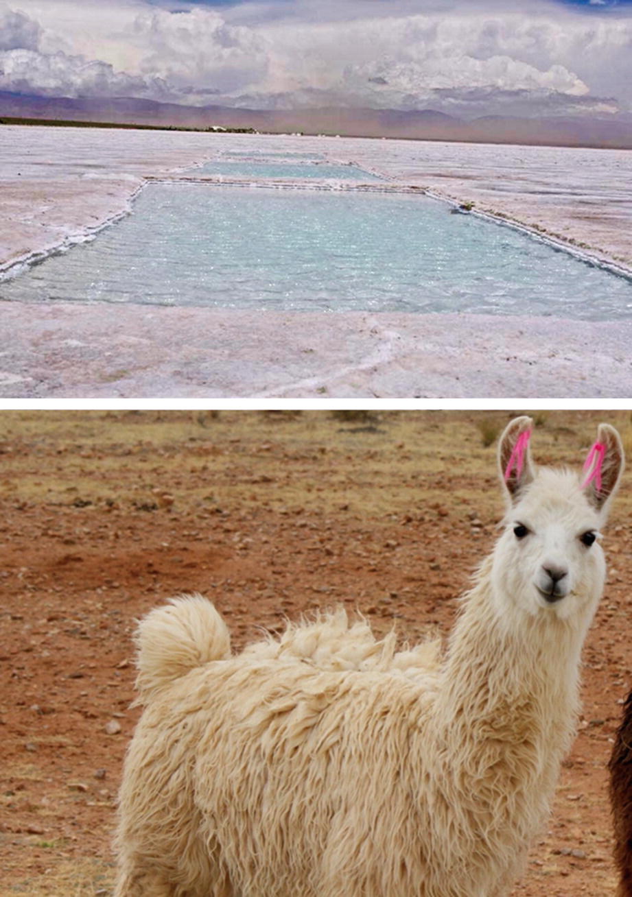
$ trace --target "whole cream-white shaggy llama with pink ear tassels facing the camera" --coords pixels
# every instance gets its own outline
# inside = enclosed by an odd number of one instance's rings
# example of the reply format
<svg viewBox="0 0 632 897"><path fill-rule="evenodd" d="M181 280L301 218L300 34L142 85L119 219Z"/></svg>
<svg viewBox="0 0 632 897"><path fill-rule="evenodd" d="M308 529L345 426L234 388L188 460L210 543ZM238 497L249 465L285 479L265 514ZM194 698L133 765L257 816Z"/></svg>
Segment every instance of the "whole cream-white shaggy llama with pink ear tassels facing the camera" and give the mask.
<svg viewBox="0 0 632 897"><path fill-rule="evenodd" d="M143 715L120 790L115 897L503 897L547 818L601 597L623 452L584 474L498 450L507 513L442 654L344 611L232 655L215 607L140 623Z"/></svg>

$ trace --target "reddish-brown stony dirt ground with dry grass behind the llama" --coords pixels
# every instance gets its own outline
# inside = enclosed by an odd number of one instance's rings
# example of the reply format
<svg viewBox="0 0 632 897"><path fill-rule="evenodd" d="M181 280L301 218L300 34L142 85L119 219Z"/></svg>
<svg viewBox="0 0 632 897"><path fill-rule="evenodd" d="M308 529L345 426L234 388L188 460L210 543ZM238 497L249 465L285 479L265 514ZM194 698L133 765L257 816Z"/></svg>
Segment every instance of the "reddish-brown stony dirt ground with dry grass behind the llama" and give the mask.
<svg viewBox="0 0 632 897"><path fill-rule="evenodd" d="M110 894L131 633L166 597L213 597L236 647L344 602L377 631L447 632L502 510L509 412L0 412L0 895ZM600 420L534 413L543 463L581 464ZM584 649L583 715L515 897L613 894L605 767L632 686L630 476ZM270 895L273 897L273 895Z"/></svg>

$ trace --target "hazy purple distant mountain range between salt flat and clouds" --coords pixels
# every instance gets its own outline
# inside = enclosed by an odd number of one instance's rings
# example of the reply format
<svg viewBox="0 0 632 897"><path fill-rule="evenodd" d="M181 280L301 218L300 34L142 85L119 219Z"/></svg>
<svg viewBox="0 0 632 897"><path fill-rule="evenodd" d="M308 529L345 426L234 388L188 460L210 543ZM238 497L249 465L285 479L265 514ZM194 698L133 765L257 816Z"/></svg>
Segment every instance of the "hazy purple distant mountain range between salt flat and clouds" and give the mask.
<svg viewBox="0 0 632 897"><path fill-rule="evenodd" d="M434 112L396 109L234 109L180 106L134 98L27 96L0 91L0 118L49 118L176 127L253 127L272 133L404 137L491 144L632 149L632 116L509 118L465 121Z"/></svg>

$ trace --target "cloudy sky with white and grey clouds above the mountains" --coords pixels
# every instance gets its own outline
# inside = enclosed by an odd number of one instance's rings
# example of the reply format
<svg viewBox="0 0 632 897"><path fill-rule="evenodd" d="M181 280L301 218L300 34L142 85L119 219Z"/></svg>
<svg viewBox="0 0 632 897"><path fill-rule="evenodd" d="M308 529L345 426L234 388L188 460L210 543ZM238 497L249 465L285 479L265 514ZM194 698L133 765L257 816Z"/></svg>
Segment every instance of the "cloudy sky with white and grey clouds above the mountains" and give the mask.
<svg viewBox="0 0 632 897"><path fill-rule="evenodd" d="M0 0L0 90L632 113L632 0Z"/></svg>

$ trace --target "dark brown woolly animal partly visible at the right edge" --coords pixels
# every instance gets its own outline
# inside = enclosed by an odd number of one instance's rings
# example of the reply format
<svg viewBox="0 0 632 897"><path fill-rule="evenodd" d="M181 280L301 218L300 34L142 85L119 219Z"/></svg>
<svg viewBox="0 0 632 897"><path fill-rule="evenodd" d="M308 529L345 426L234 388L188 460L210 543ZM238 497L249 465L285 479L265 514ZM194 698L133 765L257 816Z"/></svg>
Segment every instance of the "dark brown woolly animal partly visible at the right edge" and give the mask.
<svg viewBox="0 0 632 897"><path fill-rule="evenodd" d="M632 897L632 692L623 708L608 768L614 858L619 869L617 897Z"/></svg>

